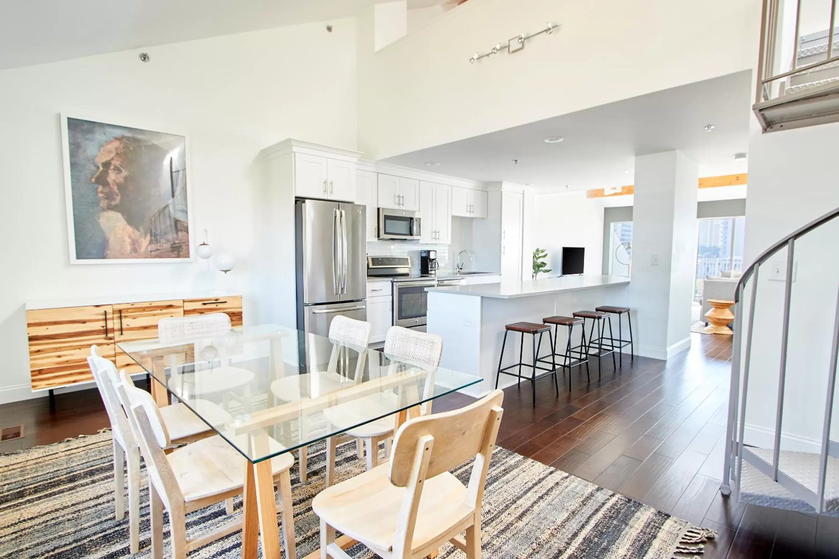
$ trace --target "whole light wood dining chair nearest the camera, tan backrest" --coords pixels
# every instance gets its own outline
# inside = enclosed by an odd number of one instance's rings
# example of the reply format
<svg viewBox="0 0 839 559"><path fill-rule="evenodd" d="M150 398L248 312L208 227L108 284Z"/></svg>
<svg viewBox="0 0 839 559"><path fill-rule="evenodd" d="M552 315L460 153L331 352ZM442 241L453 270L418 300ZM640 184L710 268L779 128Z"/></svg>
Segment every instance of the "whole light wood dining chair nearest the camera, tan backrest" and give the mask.
<svg viewBox="0 0 839 559"><path fill-rule="evenodd" d="M467 559L479 559L483 491L503 397L496 390L460 410L410 419L399 427L387 464L315 496L321 559L349 559L336 530L382 557L419 559L451 541ZM449 470L471 458L465 486Z"/></svg>

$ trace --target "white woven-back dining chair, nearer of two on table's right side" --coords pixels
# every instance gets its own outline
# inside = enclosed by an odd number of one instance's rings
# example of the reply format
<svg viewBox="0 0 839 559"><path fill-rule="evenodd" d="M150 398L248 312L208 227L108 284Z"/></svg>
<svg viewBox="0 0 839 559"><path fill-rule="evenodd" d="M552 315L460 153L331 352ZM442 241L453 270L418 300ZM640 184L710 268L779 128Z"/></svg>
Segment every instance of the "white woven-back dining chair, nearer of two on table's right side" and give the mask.
<svg viewBox="0 0 839 559"><path fill-rule="evenodd" d="M388 367L388 375L393 375L403 361L433 372L440 366L440 359L443 355L443 339L437 334L427 334L425 332L402 328L401 326L392 326L388 329L388 334L384 341L384 353L397 359L391 361ZM430 378L425 381L426 390L433 389L433 386L433 379ZM367 406L367 403L373 404L377 399L387 400L386 407L390 409L399 406L399 395L393 392L386 392L372 396L366 400L362 399L361 401L352 402L352 406ZM336 426L357 425L358 421L355 421L352 417L352 406L338 406L336 408L326 409L324 415L327 420ZM430 402L420 406L420 413L421 415L430 413ZM389 456L390 439L393 437L394 425L395 421L393 416L388 416L377 419L374 422L365 423L361 427L354 427L347 430L347 435L357 437L358 440L363 441L365 452L367 453L368 470L378 466L378 443L384 441L385 456ZM329 445L328 441L327 445ZM329 454L328 451L329 449L327 448L327 454ZM331 481L328 477L327 480Z"/></svg>

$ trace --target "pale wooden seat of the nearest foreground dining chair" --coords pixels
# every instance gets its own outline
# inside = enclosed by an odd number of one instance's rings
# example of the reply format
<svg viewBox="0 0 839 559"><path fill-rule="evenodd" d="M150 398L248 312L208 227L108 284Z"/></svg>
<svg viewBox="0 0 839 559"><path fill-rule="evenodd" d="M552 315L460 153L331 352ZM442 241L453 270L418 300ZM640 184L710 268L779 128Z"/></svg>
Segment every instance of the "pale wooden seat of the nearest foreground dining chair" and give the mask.
<svg viewBox="0 0 839 559"><path fill-rule="evenodd" d="M389 463L383 463L332 485L317 494L312 501L312 510L320 520L336 526L342 533L364 542L383 556L393 551L399 513L408 491L407 488L390 483L389 467ZM424 485L414 525L412 549L420 549L431 541L439 540L451 530L451 526L460 525L475 512L474 507L466 504L468 489L454 475L446 472L425 479Z"/></svg>

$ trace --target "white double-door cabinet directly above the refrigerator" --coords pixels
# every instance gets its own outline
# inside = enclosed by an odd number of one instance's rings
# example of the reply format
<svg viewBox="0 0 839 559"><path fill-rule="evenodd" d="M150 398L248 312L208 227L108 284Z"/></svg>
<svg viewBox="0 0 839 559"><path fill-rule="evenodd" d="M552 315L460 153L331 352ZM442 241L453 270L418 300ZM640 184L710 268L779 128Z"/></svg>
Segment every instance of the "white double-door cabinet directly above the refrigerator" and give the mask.
<svg viewBox="0 0 839 559"><path fill-rule="evenodd" d="M294 153L294 195L355 201L356 163L310 153Z"/></svg>

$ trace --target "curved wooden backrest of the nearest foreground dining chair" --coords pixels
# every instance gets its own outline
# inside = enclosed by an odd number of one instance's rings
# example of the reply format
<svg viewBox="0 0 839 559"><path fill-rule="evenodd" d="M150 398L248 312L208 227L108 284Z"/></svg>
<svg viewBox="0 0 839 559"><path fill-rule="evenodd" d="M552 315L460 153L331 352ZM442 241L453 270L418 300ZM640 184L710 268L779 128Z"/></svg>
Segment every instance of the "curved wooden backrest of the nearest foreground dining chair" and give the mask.
<svg viewBox="0 0 839 559"><path fill-rule="evenodd" d="M393 441L389 476L392 484L405 487L411 479L414 453L420 437L434 437L427 477L433 478L456 468L495 444L494 436L487 441L494 422L501 421L503 391L490 395L455 411L446 411L405 422ZM494 432L498 432L497 428Z"/></svg>

